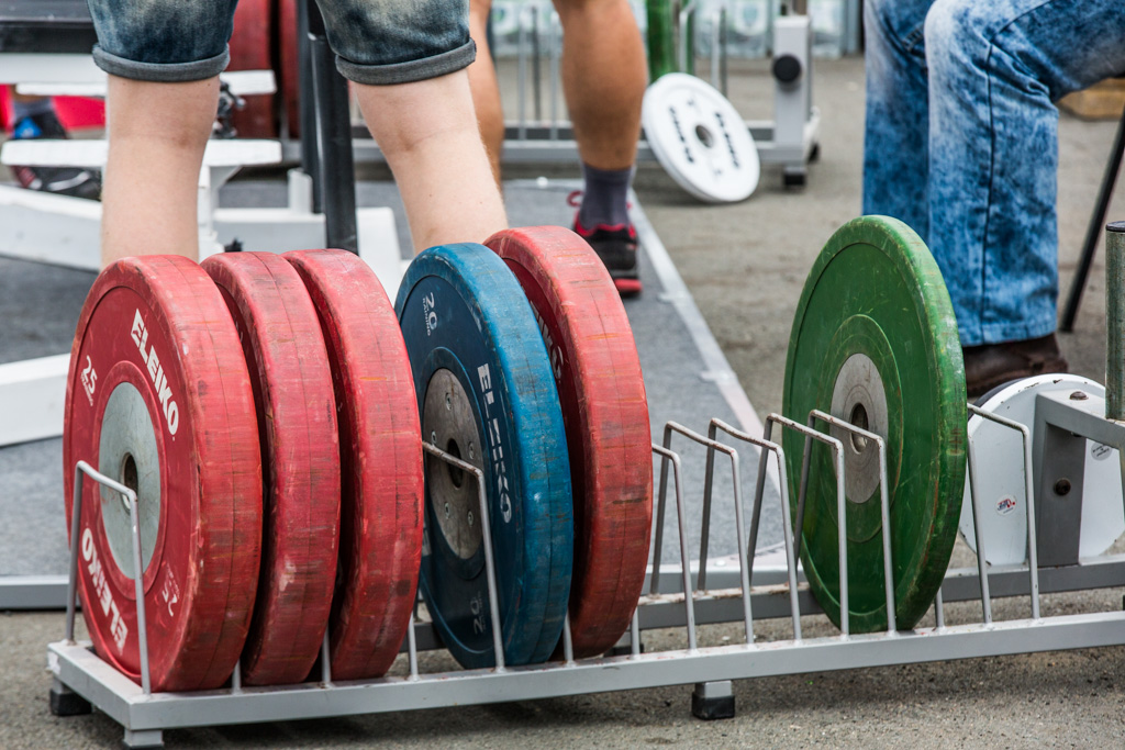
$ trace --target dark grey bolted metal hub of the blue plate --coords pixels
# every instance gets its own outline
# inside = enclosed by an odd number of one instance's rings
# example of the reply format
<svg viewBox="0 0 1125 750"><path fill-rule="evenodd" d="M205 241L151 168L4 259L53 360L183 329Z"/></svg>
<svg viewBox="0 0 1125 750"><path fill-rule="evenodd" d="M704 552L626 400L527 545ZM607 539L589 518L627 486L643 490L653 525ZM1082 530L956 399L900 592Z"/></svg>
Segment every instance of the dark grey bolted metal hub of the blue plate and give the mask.
<svg viewBox="0 0 1125 750"><path fill-rule="evenodd" d="M435 371L426 386L422 407L422 436L478 469L479 428L468 394L450 370ZM433 517L449 548L462 560L480 549L480 508L471 476L439 459L426 460L426 496Z"/></svg>

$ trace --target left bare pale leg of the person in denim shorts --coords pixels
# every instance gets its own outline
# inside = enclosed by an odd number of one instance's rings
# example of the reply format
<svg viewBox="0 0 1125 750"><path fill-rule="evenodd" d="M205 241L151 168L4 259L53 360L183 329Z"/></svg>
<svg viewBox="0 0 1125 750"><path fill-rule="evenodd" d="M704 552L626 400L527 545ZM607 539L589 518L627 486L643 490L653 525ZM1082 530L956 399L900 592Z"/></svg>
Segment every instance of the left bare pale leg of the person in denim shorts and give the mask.
<svg viewBox="0 0 1125 750"><path fill-rule="evenodd" d="M199 254L196 188L218 78L152 83L109 76L101 265L129 255Z"/></svg>

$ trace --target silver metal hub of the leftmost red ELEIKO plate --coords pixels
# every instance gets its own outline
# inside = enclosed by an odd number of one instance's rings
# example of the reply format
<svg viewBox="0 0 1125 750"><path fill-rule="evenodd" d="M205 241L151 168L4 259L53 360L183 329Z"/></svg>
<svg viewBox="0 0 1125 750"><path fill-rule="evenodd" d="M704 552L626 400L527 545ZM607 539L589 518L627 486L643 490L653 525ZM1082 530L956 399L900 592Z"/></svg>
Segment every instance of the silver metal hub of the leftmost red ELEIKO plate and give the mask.
<svg viewBox="0 0 1125 750"><path fill-rule="evenodd" d="M141 564L147 570L160 531L160 452L144 396L132 383L118 383L106 401L98 443L98 471L137 494L141 524ZM118 569L136 577L133 525L120 495L101 488L101 525Z"/></svg>

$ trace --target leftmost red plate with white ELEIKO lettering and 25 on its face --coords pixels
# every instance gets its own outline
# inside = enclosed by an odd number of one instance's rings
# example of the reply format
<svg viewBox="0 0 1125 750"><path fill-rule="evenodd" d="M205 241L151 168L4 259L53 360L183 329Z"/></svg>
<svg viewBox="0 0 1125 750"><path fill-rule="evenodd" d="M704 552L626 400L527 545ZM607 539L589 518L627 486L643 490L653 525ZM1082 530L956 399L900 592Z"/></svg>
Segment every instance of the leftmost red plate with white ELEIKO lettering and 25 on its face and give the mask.
<svg viewBox="0 0 1125 750"><path fill-rule="evenodd" d="M261 544L253 409L237 331L196 263L129 257L98 277L66 383L66 515L79 460L137 490L153 690L217 688L242 652ZM84 479L78 586L98 654L140 681L124 508Z"/></svg>

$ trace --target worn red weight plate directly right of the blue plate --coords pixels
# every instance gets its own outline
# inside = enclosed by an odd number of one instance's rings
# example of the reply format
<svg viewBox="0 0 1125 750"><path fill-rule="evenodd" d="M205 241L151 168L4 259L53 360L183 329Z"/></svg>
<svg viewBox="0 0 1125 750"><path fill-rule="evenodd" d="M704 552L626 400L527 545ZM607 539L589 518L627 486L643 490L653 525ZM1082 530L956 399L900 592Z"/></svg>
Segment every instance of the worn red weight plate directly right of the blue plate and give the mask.
<svg viewBox="0 0 1125 750"><path fill-rule="evenodd" d="M629 627L652 523L648 401L632 328L596 253L569 229L505 229L485 244L520 280L550 355L574 493L574 654L598 656Z"/></svg>

